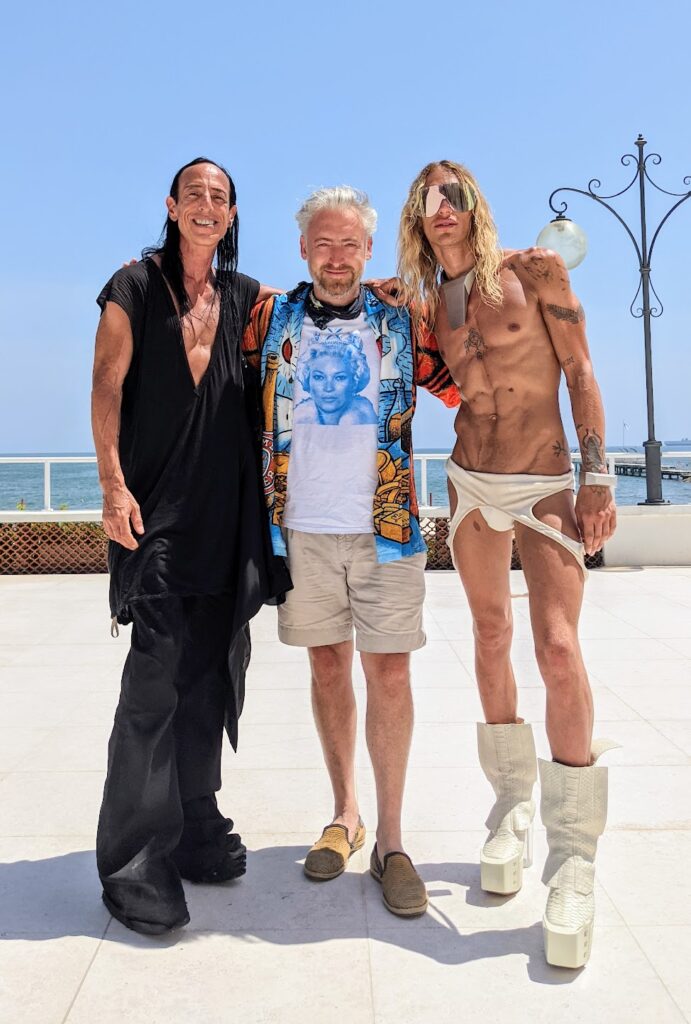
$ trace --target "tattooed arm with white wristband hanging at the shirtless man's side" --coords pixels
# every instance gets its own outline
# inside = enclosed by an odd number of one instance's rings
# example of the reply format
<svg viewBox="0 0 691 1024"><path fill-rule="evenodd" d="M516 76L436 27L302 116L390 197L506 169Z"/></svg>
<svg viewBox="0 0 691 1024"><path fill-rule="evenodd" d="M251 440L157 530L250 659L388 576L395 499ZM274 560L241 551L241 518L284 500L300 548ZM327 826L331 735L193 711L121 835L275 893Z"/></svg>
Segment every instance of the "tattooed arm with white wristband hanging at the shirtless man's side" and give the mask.
<svg viewBox="0 0 691 1024"><path fill-rule="evenodd" d="M559 365L564 372L580 447L580 472L607 473L605 412L586 337L586 313L571 289L561 256L550 250L528 251L533 288ZM608 486L581 483L576 495L576 519L586 553L594 554L616 527L614 497Z"/></svg>

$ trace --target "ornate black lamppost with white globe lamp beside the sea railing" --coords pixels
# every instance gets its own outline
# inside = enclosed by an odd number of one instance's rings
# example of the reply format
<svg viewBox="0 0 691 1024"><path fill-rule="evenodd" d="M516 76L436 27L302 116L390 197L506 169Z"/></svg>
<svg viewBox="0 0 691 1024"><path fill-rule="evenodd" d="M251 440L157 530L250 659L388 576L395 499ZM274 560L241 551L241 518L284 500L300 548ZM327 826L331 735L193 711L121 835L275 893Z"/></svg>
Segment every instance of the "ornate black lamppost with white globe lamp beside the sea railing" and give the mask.
<svg viewBox="0 0 691 1024"><path fill-rule="evenodd" d="M648 173L648 161L657 165L661 162L661 157L657 153L649 153L647 156L643 155L643 150L647 144L643 135L639 135L636 139L636 146L638 148L638 156L633 153L627 153L621 157L621 163L624 167L630 167L632 164L636 165L636 174L633 179L629 182L625 188L622 188L618 193L614 193L612 196L600 196L597 189L602 187L602 182L598 178L592 178L588 182L588 188L571 188L562 187L555 188L555 190L550 196L550 208L557 214L556 218L551 221L550 224L541 232L537 240L538 245L548 246L550 249L555 249L560 253L566 260L566 265L568 267L577 266L586 255L586 236L585 232L569 220L568 217L564 216L564 213L568 207L568 204L561 202L559 207L554 205L554 198L558 196L559 193L572 191L577 193L579 196L586 196L588 199L595 200L600 206L604 206L606 210L614 214L616 219L619 221L627 234L631 239L634 249L636 250L636 255L638 257L639 263L639 274L640 282L636 295L634 296L634 301L630 306L632 316L637 319L643 319L643 337L645 343L645 387L646 387L646 398L648 403L648 440L644 443L645 449L645 475L646 475L646 500L641 502L642 505L663 505L665 504L662 499L662 476L660 472L661 467L661 443L655 440L655 415L653 408L653 382L652 382L652 351L651 351L651 332L650 324L651 317L660 316L662 314L662 303L655 291L652 282L650 280L650 263L652 259L653 249L655 248L655 242L657 241L657 236L660 233L662 226L670 219L675 210L686 203L687 199L691 199L691 188L685 193L671 193L666 188L660 187ZM659 224L655 228L655 232L652 237L650 245L648 245L648 228L646 222L646 181L649 182L653 188L657 191L663 193L665 196L673 196L677 202L667 210ZM623 196L624 193L633 188L638 182L639 187L639 203L641 210L641 231L637 239L631 227L624 219L617 213L617 211L609 205L607 200L616 199L618 196ZM685 185L691 185L691 175L684 178ZM650 293L654 295L657 305L650 305ZM636 307L636 302L639 295L642 296L642 304Z"/></svg>

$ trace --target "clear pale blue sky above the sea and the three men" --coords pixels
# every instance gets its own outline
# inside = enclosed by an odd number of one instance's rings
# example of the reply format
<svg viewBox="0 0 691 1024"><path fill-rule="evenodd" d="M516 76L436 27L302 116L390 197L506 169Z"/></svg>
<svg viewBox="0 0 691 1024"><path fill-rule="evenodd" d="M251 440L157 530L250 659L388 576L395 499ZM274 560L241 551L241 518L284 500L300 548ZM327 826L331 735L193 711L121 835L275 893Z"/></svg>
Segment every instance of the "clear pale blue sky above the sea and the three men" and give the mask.
<svg viewBox="0 0 691 1024"><path fill-rule="evenodd" d="M241 269L278 287L304 275L293 215L322 184L370 193L380 214L372 272L391 272L407 185L442 157L476 173L505 246L528 246L553 188L594 176L606 191L623 187L619 157L639 132L662 156L657 180L684 189L690 23L682 0L13 6L0 39L0 452L91 449L94 298L158 238L172 174L191 157L229 167ZM665 200L651 196L653 226ZM623 201L636 223L635 197ZM570 213L590 239L573 284L608 441L621 442L625 421L627 440L640 443L634 251L596 204L573 197ZM665 306L653 325L660 439L691 436L690 239L691 201L653 261ZM447 446L451 424L423 396L417 445Z"/></svg>

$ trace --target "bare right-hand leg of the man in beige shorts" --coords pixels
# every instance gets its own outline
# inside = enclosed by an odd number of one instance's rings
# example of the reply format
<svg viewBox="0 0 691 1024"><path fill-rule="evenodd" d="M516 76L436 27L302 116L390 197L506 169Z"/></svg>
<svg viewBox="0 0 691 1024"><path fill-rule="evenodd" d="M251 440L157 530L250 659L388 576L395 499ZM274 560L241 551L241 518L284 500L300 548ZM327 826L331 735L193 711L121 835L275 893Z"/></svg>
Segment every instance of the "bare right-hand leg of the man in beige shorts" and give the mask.
<svg viewBox="0 0 691 1024"><path fill-rule="evenodd" d="M409 654L360 655L368 681L366 738L377 785L377 852L401 850L400 818L413 736Z"/></svg>

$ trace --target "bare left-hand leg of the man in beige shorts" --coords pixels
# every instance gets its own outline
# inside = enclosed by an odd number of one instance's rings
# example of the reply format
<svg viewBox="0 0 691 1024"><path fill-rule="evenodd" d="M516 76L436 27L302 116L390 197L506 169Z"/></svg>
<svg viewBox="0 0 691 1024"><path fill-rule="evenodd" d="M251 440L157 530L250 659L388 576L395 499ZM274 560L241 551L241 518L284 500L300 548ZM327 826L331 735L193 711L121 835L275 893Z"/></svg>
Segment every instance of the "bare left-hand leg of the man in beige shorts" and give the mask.
<svg viewBox="0 0 691 1024"><path fill-rule="evenodd" d="M352 685L353 643L308 649L312 670L312 711L334 791L334 821L352 842L359 818L355 793L357 714Z"/></svg>

